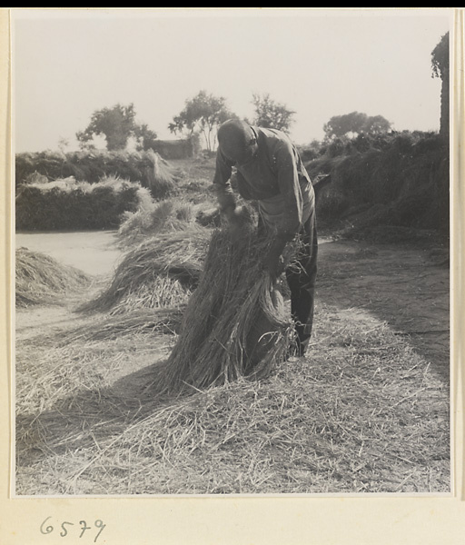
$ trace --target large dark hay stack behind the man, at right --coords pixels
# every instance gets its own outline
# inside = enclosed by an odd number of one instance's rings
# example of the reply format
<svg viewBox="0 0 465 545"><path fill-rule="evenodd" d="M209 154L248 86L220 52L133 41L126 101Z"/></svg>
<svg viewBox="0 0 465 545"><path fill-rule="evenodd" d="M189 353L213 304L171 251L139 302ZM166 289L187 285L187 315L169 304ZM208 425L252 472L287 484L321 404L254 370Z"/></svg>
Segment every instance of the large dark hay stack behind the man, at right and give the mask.
<svg viewBox="0 0 465 545"><path fill-rule="evenodd" d="M449 149L440 136L400 134L368 149L342 146L306 163L312 180L331 175L317 199L317 215L331 227L351 218L351 232L373 226L449 228Z"/></svg>

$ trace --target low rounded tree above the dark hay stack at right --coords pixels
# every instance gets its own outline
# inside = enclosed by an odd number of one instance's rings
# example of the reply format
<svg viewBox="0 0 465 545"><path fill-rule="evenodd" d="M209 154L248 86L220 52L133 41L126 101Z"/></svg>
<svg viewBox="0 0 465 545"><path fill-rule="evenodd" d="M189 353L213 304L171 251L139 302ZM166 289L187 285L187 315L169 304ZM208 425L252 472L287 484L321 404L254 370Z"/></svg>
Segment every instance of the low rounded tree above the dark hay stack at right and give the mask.
<svg viewBox="0 0 465 545"><path fill-rule="evenodd" d="M343 136L358 136L359 134L387 133L390 129L391 123L382 115L368 116L360 112L334 115L323 126L327 140Z"/></svg>

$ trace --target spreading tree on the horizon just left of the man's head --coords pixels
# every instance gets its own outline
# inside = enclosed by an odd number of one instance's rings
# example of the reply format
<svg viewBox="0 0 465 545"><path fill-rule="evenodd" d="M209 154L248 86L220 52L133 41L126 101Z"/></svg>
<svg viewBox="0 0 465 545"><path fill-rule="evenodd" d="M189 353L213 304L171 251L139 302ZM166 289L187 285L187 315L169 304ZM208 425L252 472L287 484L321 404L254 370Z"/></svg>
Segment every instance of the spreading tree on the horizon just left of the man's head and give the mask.
<svg viewBox="0 0 465 545"><path fill-rule="evenodd" d="M185 101L182 112L173 117L173 123L168 124L168 128L174 134L182 133L189 138L194 134L203 134L207 150L213 151L218 127L226 120L236 117L229 110L223 96L200 91Z"/></svg>

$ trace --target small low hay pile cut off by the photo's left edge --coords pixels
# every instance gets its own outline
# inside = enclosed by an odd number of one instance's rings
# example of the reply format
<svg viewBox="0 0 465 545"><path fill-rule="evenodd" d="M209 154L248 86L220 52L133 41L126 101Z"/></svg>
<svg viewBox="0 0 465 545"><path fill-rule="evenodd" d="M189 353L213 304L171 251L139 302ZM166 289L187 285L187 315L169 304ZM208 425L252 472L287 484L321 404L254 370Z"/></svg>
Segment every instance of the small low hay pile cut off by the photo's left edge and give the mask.
<svg viewBox="0 0 465 545"><path fill-rule="evenodd" d="M65 292L82 289L90 279L84 273L58 263L45 253L18 248L15 253L16 307L56 304Z"/></svg>

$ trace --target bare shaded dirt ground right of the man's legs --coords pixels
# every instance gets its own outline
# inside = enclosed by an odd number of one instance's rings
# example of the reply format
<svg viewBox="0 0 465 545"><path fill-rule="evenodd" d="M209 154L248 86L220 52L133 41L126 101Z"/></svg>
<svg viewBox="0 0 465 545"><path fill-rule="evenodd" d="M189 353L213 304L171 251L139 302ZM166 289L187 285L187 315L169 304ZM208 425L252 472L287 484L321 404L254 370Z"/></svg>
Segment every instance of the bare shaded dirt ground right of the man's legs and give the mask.
<svg viewBox="0 0 465 545"><path fill-rule="evenodd" d="M341 318L364 309L386 322L430 362L450 374L450 271L445 250L406 245L322 244L318 299ZM317 327L317 325L316 325Z"/></svg>

